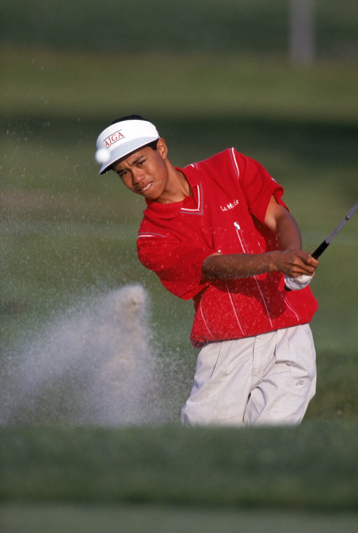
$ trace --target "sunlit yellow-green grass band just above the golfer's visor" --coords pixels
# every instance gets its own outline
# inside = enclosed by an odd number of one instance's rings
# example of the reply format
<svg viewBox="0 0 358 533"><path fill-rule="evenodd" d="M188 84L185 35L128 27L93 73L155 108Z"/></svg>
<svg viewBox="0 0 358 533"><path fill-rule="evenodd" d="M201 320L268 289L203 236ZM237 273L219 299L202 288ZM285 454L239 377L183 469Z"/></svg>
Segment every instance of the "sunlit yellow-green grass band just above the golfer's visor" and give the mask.
<svg viewBox="0 0 358 533"><path fill-rule="evenodd" d="M219 123L230 117L258 123L271 118L273 125L292 119L298 126L304 120L320 120L322 127L335 121L356 124L358 117L355 67L339 62L301 70L288 67L279 55L247 52L118 55L111 50L103 55L19 45L4 46L2 62L1 108L14 141L26 136L23 123L29 117L38 117L43 139L51 139L57 117L77 131L72 144L76 150L82 135L96 139L97 130L88 129L86 120L102 120L101 128L128 114L126 110ZM215 132L212 126L211 135Z"/></svg>

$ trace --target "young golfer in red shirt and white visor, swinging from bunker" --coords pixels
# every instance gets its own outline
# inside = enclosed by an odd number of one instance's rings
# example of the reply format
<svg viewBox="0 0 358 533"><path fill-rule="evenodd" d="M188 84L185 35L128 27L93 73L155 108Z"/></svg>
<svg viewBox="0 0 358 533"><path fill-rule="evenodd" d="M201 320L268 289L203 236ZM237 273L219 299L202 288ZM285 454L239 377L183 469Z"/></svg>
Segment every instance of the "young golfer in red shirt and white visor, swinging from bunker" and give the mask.
<svg viewBox="0 0 358 533"><path fill-rule="evenodd" d="M107 127L97 150L99 174L113 169L146 201L139 260L194 301L190 341L202 350L182 423L299 424L315 392L306 285L318 261L301 251L284 189L234 148L174 167L136 115Z"/></svg>

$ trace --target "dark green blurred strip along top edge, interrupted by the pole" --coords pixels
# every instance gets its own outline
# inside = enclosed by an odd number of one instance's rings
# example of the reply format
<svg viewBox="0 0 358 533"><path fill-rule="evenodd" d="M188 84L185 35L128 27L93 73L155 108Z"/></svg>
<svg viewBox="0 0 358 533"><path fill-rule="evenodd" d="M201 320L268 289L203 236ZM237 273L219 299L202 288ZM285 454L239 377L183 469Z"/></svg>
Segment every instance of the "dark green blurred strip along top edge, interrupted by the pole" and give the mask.
<svg viewBox="0 0 358 533"><path fill-rule="evenodd" d="M2 10L2 39L103 54L128 51L252 51L285 53L286 0L20 0ZM315 0L314 19L320 55L356 57L354 0Z"/></svg>

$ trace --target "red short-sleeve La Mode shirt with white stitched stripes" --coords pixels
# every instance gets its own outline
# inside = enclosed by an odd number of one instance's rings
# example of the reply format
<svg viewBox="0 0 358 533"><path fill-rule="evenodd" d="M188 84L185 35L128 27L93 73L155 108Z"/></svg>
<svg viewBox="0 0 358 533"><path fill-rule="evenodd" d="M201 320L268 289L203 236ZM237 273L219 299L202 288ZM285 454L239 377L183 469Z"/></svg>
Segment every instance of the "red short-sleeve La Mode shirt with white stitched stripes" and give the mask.
<svg viewBox="0 0 358 533"><path fill-rule="evenodd" d="M193 196L171 204L146 200L137 248L141 263L165 288L184 300L193 298L192 344L200 348L309 322L317 310L311 289L287 293L281 272L200 282L203 261L215 252L278 249L264 219L272 195L286 207L284 189L234 148L178 170Z"/></svg>

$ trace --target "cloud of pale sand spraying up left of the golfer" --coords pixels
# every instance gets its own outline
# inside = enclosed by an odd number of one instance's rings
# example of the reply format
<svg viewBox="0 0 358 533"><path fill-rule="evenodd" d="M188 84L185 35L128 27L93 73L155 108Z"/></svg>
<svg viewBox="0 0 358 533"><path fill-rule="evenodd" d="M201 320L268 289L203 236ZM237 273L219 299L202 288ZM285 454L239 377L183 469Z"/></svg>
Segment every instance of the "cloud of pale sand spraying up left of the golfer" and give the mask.
<svg viewBox="0 0 358 533"><path fill-rule="evenodd" d="M175 383L178 368L171 358L169 372L168 361L157 357L148 307L146 290L128 285L53 320L21 353L5 358L0 424L174 421L163 381L171 374Z"/></svg>

